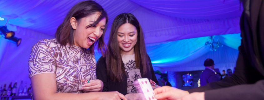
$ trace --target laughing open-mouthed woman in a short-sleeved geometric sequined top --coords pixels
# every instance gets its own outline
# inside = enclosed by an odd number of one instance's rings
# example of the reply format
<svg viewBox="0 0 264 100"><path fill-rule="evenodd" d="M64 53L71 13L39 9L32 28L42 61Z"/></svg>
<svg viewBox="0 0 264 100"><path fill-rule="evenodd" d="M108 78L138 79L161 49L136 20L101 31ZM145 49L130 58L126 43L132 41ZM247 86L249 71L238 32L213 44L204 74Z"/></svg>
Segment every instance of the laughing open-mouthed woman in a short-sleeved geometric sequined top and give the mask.
<svg viewBox="0 0 264 100"><path fill-rule="evenodd" d="M71 8L57 28L55 39L39 40L28 61L35 100L120 100L118 92L101 92L96 79L94 45L105 52L103 41L107 13L94 1L83 1ZM82 83L90 80L90 83Z"/></svg>

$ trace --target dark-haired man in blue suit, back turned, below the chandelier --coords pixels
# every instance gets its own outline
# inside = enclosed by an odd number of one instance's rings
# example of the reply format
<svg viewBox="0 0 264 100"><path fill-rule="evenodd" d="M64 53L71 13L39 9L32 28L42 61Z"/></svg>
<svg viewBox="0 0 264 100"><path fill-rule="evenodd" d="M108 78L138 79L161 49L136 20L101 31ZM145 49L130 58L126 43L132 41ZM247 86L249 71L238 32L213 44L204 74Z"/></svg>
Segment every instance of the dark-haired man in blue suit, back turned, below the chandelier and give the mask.
<svg viewBox="0 0 264 100"><path fill-rule="evenodd" d="M208 58L204 61L203 65L205 66L205 69L200 75L201 86L205 86L207 83L220 81L220 78L214 71L214 60Z"/></svg>

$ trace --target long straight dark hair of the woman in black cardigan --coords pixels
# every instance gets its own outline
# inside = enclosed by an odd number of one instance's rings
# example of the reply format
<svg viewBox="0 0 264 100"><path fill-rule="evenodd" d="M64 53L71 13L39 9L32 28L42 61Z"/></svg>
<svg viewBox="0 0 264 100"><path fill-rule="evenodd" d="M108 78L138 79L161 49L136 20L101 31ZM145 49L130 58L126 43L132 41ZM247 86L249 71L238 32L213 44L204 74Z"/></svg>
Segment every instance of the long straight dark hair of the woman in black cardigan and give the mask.
<svg viewBox="0 0 264 100"><path fill-rule="evenodd" d="M119 82L122 81L122 77L127 75L127 73L122 61L121 49L118 46L117 30L125 23L130 23L137 29L137 43L134 46L136 68L142 67L143 74L150 71L142 28L134 15L131 13L122 13L118 15L112 23L107 44L109 53L106 55L107 74L113 79L113 81Z"/></svg>

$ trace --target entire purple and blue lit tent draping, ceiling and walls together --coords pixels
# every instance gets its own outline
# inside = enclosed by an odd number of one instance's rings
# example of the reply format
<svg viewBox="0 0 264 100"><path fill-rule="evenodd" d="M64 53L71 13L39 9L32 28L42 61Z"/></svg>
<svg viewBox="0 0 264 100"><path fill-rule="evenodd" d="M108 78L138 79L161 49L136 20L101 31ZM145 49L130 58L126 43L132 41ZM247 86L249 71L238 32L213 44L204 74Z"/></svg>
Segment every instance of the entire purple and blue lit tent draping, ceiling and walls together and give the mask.
<svg viewBox="0 0 264 100"><path fill-rule="evenodd" d="M26 79L30 49L40 39L54 38L70 8L82 0L0 0L0 26L7 25L22 38L16 47L0 38L0 80ZM218 66L234 67L240 45L239 0L95 0L107 11L108 41L113 19L130 12L140 22L147 53L155 69L188 71L201 69L201 61L219 56ZM217 35L224 45L211 52L204 47L206 36ZM237 52L236 52L237 51ZM96 58L100 53L95 52ZM210 55L209 55L210 54ZM232 56L232 62L221 56ZM226 59L226 58L225 58ZM203 62L203 61L202 61ZM191 64L193 63L193 64ZM16 73L10 76L10 73ZM14 81L14 80L13 80ZM1 82L0 82L1 84Z"/></svg>

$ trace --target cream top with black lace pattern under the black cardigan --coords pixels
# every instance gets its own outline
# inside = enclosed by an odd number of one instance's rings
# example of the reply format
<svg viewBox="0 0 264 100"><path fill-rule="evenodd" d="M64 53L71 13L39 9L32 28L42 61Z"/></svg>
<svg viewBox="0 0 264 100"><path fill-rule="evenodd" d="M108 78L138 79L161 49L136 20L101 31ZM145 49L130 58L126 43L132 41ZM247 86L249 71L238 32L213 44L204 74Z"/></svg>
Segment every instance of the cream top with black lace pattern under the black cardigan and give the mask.
<svg viewBox="0 0 264 100"><path fill-rule="evenodd" d="M135 55L122 55L127 73L127 93L142 93L137 79L141 79L139 68L136 68Z"/></svg>

